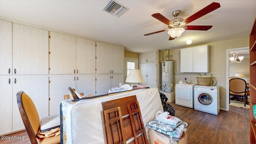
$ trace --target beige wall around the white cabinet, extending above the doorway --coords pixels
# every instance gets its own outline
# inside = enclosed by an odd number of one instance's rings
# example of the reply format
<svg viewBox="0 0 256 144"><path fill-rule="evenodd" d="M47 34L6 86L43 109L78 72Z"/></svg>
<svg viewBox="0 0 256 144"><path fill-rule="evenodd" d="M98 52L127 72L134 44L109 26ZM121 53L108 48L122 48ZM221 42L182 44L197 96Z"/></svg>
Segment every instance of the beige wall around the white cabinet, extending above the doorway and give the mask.
<svg viewBox="0 0 256 144"><path fill-rule="evenodd" d="M207 45L210 51L210 72L207 75L212 74L212 78L217 81L216 86L220 86L220 108L226 110L228 107L226 104L226 50L249 46L249 36L208 43ZM176 60L177 72L180 72L180 49L172 50L172 60ZM178 83L179 80L184 80L184 77L192 80L192 83L197 83L196 75L174 74L174 84Z"/></svg>

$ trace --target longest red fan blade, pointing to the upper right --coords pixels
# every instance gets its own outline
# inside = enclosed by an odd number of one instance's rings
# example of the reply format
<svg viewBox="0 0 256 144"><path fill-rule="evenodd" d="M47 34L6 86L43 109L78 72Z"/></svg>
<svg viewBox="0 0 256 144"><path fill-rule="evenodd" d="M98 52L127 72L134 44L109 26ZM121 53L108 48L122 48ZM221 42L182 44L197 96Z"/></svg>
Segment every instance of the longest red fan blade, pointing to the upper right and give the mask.
<svg viewBox="0 0 256 144"><path fill-rule="evenodd" d="M208 14L209 12L216 10L217 8L220 8L220 3L213 2L213 3L209 4L208 6L206 6L205 8L203 8L202 10L199 10L192 16L186 18L186 20L184 20L184 21L186 21L188 24L188 23Z"/></svg>

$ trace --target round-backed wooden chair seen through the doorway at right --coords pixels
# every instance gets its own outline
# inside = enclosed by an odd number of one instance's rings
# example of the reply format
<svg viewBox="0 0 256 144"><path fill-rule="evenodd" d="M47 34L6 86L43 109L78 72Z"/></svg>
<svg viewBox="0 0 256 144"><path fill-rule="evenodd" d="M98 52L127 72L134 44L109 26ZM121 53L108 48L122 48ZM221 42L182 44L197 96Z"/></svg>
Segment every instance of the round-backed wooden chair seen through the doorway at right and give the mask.
<svg viewBox="0 0 256 144"><path fill-rule="evenodd" d="M229 103L230 100L243 101L246 106L248 97L246 94L246 81L241 78L229 80Z"/></svg>

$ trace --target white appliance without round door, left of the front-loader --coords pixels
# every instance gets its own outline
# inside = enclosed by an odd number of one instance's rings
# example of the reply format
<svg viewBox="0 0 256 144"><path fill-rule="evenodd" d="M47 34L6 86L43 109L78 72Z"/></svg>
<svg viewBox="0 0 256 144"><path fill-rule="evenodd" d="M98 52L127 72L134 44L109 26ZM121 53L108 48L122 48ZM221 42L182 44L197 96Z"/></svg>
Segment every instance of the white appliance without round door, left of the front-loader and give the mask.
<svg viewBox="0 0 256 144"><path fill-rule="evenodd" d="M194 108L194 85L196 84L176 84L175 104Z"/></svg>

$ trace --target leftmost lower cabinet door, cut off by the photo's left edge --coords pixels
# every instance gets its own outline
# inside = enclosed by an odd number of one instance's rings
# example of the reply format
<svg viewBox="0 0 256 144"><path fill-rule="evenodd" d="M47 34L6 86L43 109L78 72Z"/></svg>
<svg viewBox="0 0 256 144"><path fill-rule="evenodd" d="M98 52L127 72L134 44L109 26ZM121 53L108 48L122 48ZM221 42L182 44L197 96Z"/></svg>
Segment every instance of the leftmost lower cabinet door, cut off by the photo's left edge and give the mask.
<svg viewBox="0 0 256 144"><path fill-rule="evenodd" d="M12 77L0 77L0 135L12 132Z"/></svg>

